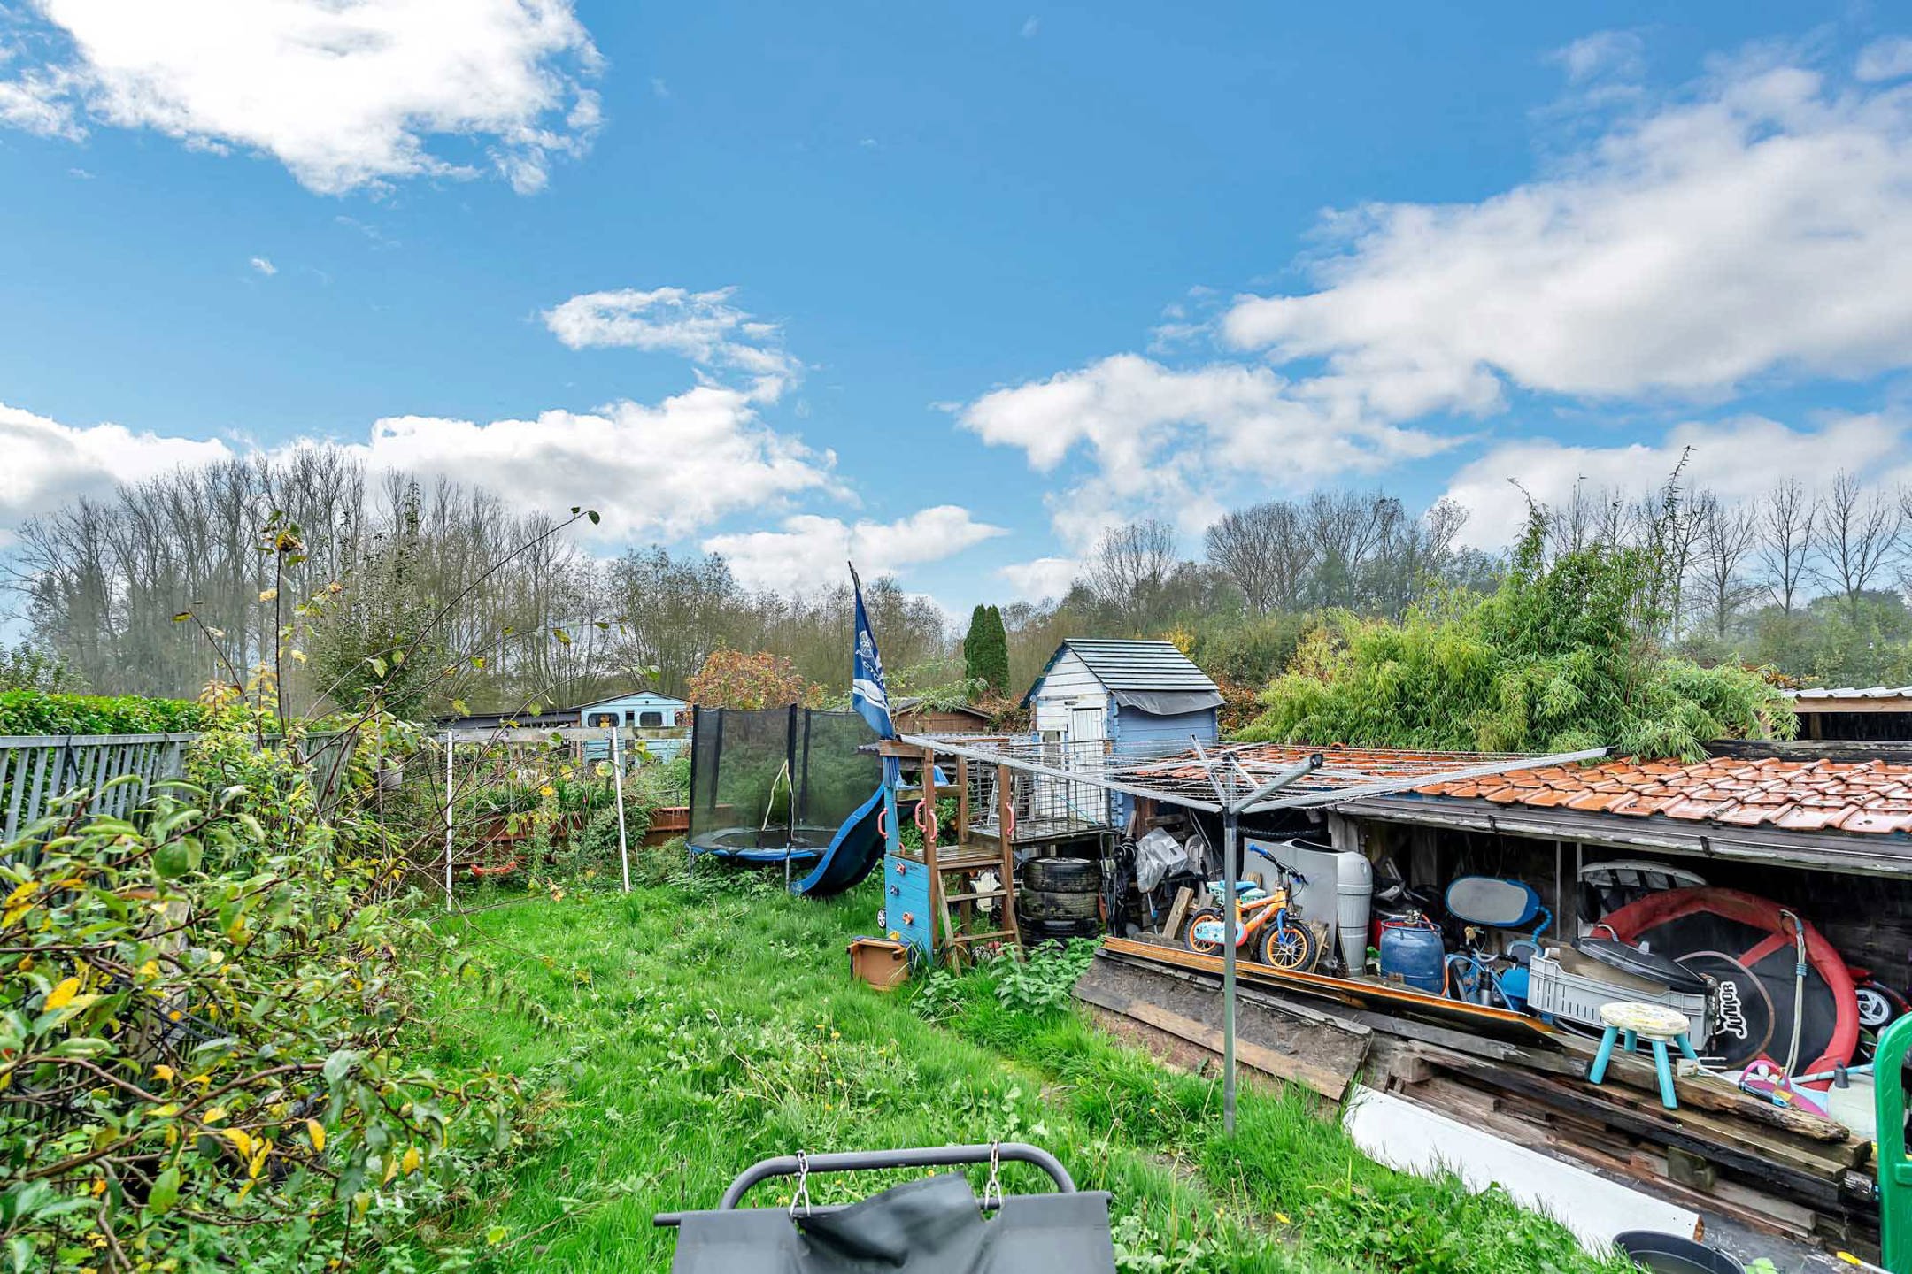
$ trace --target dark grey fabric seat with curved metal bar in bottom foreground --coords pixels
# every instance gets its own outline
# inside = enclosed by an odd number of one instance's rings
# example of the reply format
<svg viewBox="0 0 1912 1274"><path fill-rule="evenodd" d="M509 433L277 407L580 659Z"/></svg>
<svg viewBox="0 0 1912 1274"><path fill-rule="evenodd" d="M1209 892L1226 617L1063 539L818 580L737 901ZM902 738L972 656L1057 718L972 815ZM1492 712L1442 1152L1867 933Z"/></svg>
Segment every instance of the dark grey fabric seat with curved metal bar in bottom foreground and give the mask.
<svg viewBox="0 0 1912 1274"><path fill-rule="evenodd" d="M1010 1194L996 1163L1044 1169L1055 1194ZM843 1207L807 1207L811 1173L989 1163L981 1201L962 1173L923 1177ZM795 1177L790 1207L738 1207L753 1184ZM996 1215L985 1217L985 1211ZM744 1169L711 1211L660 1213L677 1226L671 1274L1113 1274L1109 1194L1076 1190L1055 1156L1023 1142L784 1156Z"/></svg>

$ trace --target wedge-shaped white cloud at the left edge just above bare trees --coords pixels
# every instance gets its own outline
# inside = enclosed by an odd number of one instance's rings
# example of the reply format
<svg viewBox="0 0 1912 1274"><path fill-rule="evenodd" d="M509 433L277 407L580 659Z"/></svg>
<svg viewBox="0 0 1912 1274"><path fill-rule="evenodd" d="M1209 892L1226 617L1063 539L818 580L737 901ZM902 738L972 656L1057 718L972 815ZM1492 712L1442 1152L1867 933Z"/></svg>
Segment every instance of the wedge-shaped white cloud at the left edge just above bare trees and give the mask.
<svg viewBox="0 0 1912 1274"><path fill-rule="evenodd" d="M0 546L34 514L80 497L111 495L182 464L210 464L233 453L218 439L136 434L120 424L75 428L0 403Z"/></svg>

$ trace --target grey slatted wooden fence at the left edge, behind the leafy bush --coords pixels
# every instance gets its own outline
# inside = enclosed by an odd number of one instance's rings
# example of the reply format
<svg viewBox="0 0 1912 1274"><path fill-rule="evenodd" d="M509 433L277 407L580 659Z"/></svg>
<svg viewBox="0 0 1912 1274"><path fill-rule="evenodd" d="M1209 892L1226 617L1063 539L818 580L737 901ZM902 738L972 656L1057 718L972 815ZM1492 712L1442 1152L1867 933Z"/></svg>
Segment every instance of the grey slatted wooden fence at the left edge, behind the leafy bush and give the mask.
<svg viewBox="0 0 1912 1274"><path fill-rule="evenodd" d="M180 775L185 745L197 733L27 733L0 735L0 844L46 817L61 793L88 787L94 812L124 817L145 802L153 783ZM101 791L122 775L136 781Z"/></svg>

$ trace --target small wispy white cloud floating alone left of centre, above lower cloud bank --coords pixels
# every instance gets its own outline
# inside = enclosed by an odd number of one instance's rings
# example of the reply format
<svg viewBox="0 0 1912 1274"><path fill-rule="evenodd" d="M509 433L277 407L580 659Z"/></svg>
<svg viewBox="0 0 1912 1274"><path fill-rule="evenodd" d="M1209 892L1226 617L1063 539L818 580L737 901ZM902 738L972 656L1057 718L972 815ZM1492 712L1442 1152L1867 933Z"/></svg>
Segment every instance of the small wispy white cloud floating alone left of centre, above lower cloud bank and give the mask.
<svg viewBox="0 0 1912 1274"><path fill-rule="evenodd" d="M704 367L790 378L799 363L782 329L730 304L736 288L616 288L583 292L545 311L545 327L572 350L623 346L677 353Z"/></svg>

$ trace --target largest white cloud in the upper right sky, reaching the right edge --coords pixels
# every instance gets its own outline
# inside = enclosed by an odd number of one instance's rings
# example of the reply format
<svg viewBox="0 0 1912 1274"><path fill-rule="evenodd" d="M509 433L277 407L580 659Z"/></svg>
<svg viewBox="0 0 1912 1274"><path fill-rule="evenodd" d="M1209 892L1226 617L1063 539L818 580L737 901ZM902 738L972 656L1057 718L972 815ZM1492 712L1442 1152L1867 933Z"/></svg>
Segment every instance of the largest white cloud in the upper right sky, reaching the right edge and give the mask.
<svg viewBox="0 0 1912 1274"><path fill-rule="evenodd" d="M1591 74L1612 50L1568 57ZM1912 88L1738 63L1474 204L1329 218L1302 296L1243 296L1239 350L1323 359L1386 418L1488 411L1503 384L1721 397L1769 374L1912 363Z"/></svg>

